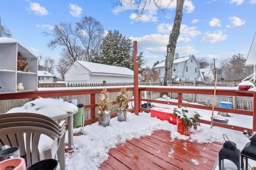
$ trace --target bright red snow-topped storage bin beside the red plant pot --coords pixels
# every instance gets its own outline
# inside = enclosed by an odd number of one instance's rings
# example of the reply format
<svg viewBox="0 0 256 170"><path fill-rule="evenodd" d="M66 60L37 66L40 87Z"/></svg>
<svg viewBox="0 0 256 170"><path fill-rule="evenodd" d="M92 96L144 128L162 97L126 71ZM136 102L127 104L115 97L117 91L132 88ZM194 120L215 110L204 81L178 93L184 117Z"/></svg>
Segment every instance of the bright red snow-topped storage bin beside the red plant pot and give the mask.
<svg viewBox="0 0 256 170"><path fill-rule="evenodd" d="M157 109L151 108L150 109L151 117L157 117L159 120L162 121L169 121L172 124L177 124L177 119L175 116L173 116L172 113L167 113L164 111L158 111Z"/></svg>

